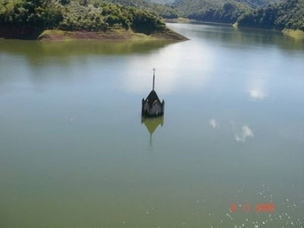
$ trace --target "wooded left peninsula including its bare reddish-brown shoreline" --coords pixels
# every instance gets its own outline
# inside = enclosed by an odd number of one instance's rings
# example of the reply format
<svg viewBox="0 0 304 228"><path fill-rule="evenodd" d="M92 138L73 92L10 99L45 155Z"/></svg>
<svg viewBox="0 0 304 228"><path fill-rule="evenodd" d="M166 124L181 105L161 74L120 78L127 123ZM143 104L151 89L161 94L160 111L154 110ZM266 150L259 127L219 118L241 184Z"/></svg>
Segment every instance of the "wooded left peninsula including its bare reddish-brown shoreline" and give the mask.
<svg viewBox="0 0 304 228"><path fill-rule="evenodd" d="M188 40L142 9L106 2L7 0L0 2L0 38L62 40Z"/></svg>

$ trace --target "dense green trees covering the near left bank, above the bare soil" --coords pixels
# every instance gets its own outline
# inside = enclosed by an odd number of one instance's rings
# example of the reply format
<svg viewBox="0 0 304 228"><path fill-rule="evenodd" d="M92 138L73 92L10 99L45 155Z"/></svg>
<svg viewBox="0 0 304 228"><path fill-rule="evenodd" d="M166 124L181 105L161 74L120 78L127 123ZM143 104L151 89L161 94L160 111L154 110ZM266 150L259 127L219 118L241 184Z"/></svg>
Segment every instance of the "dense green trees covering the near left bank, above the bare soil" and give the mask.
<svg viewBox="0 0 304 228"><path fill-rule="evenodd" d="M134 7L68 0L1 0L2 31L36 35L45 29L105 31L109 28L152 33L165 29L161 18Z"/></svg>

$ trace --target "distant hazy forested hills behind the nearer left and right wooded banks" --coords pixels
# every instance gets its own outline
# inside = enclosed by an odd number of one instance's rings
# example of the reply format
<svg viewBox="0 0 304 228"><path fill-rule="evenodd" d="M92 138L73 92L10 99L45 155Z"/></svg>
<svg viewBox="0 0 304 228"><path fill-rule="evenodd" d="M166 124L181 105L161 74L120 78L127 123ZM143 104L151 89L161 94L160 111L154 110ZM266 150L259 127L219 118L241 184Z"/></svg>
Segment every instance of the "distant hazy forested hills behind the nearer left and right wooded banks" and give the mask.
<svg viewBox="0 0 304 228"><path fill-rule="evenodd" d="M185 17L198 21L235 23L254 9L283 0L74 0L82 4L107 1L145 9L163 18Z"/></svg>

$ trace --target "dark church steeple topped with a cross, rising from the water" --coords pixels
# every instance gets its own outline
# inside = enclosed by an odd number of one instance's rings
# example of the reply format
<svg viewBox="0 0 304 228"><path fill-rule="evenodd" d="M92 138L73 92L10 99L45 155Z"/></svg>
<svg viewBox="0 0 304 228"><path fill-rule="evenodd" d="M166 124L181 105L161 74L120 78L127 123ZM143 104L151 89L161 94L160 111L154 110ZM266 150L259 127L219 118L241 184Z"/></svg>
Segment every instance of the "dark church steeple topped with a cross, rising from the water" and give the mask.
<svg viewBox="0 0 304 228"><path fill-rule="evenodd" d="M142 98L141 115L144 117L158 117L164 115L165 101L160 101L155 91L155 68L153 68L153 87L146 99Z"/></svg>

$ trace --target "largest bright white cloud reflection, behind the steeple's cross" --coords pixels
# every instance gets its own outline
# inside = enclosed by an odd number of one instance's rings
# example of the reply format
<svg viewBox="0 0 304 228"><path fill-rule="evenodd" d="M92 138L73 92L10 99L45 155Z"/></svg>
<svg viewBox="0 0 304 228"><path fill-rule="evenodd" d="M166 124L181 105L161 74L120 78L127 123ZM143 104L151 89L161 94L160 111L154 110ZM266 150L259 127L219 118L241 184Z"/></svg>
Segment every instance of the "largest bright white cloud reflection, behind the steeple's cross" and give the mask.
<svg viewBox="0 0 304 228"><path fill-rule="evenodd" d="M125 90L145 94L151 89L153 67L156 68L156 90L160 94L199 90L211 79L215 64L212 51L200 43L176 43L145 55L126 60Z"/></svg>

